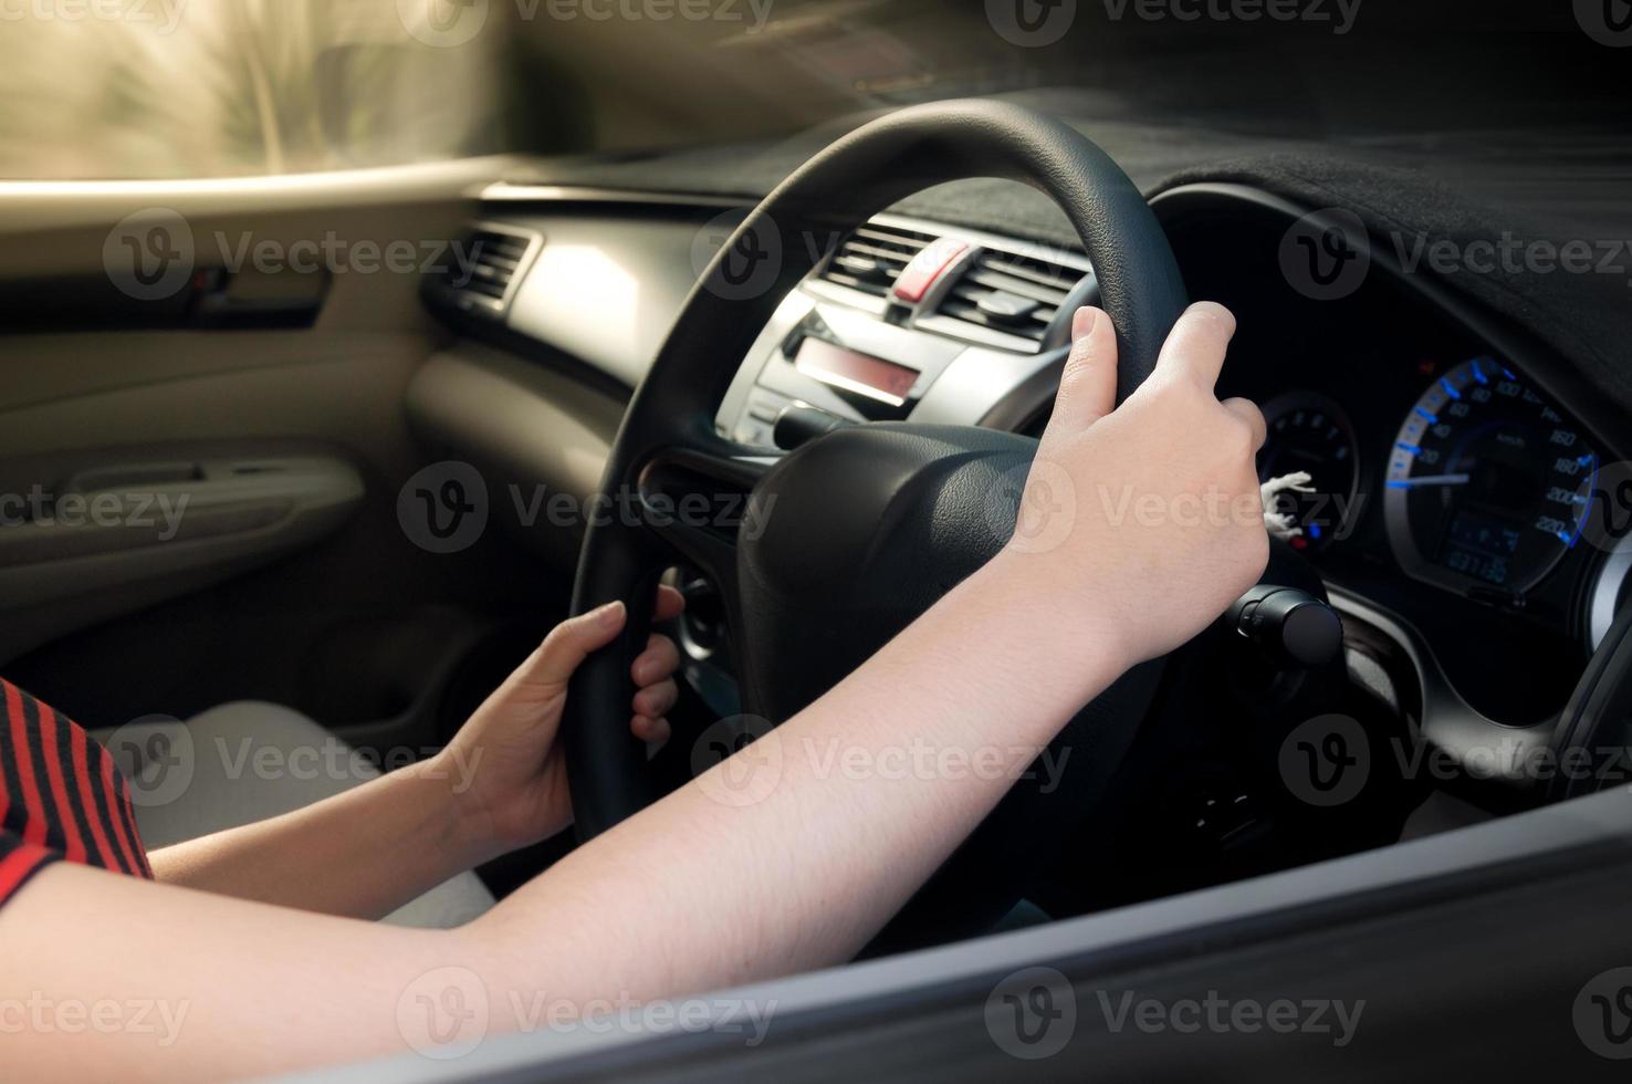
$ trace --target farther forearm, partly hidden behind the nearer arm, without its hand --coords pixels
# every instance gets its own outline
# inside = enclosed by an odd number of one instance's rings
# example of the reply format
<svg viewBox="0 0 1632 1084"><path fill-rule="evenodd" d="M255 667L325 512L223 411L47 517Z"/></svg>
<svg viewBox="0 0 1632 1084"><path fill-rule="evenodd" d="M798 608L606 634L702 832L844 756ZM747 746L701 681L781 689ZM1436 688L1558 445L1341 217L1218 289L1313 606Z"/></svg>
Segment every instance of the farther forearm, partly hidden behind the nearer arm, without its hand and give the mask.
<svg viewBox="0 0 1632 1084"><path fill-rule="evenodd" d="M150 855L157 880L302 911L379 919L493 857L428 761L317 805Z"/></svg>

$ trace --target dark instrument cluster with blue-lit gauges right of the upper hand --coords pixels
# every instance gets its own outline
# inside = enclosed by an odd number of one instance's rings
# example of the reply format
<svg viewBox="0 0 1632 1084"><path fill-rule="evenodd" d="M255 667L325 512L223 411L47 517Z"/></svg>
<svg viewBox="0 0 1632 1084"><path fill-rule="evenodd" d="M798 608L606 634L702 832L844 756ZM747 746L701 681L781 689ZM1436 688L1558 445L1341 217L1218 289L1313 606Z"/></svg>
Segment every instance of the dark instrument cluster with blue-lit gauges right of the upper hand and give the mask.
<svg viewBox="0 0 1632 1084"><path fill-rule="evenodd" d="M1299 294L1284 230L1169 222L1191 295L1237 315L1217 390L1265 411L1260 480L1278 480L1289 544L1410 625L1487 718L1555 717L1632 594L1632 464L1601 397L1544 343L1399 273Z"/></svg>

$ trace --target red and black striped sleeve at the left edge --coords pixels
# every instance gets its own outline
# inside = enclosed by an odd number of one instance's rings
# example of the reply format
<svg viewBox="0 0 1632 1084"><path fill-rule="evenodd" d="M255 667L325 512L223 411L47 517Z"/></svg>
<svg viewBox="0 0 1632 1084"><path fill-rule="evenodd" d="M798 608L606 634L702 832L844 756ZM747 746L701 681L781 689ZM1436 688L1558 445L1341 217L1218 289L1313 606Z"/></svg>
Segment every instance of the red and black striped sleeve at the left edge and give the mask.
<svg viewBox="0 0 1632 1084"><path fill-rule="evenodd" d="M153 875L113 757L0 679L0 906L57 860Z"/></svg>

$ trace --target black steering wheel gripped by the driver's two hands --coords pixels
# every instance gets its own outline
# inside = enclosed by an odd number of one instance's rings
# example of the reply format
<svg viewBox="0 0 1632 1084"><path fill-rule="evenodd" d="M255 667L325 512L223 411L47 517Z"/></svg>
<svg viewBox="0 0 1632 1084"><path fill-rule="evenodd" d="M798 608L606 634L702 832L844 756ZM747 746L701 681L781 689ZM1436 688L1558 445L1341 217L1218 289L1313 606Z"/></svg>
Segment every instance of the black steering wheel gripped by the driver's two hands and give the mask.
<svg viewBox="0 0 1632 1084"><path fill-rule="evenodd" d="M602 493L638 514L591 526L578 568L573 612L617 599L630 611L620 642L578 669L566 700L563 738L581 839L656 797L645 746L630 736L625 717L630 663L645 646L663 570L684 560L718 584L744 709L774 725L832 687L1007 540L1013 516L992 514L992 495L1018 501L1013 480L1023 478L1035 441L973 426L881 423L839 429L772 464L715 424L741 359L821 258L809 238L844 237L932 184L987 176L1031 184L1069 215L1116 322L1118 398L1155 369L1186 305L1183 279L1139 189L1080 132L1010 104L945 101L893 113L806 162L703 273L607 460ZM772 264L757 269L747 297L741 266L730 263L744 251L769 253ZM762 529L733 531L712 519L698 526L695 516L674 514L685 498L720 509L747 500ZM1108 777L1152 687L1149 668L1134 671L1085 709L1074 725L1072 785L1059 790L1089 793L1079 774ZM1009 808L1030 816L1025 795ZM1002 816L1000 808L992 820ZM955 873L943 870L947 878ZM947 898L968 886L948 888ZM971 906L966 896L956 906L986 913L1002 906L997 895L991 906Z"/></svg>

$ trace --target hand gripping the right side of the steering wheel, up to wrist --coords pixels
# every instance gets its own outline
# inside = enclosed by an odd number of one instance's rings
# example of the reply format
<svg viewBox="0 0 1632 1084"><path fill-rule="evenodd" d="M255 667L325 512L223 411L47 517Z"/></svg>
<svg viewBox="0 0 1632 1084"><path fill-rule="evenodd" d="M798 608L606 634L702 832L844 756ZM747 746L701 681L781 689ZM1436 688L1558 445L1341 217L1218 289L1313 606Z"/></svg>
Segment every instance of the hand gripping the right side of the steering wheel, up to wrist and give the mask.
<svg viewBox="0 0 1632 1084"><path fill-rule="evenodd" d="M1258 581L1268 562L1253 459L1258 408L1213 392L1235 317L1203 302L1173 327L1155 372L1116 406L1116 331L1082 309L1054 416L999 558L1053 599L1054 617L1123 666L1165 655ZM1058 604L1056 604L1058 602Z"/></svg>

